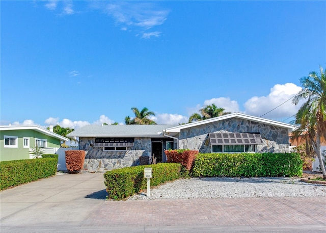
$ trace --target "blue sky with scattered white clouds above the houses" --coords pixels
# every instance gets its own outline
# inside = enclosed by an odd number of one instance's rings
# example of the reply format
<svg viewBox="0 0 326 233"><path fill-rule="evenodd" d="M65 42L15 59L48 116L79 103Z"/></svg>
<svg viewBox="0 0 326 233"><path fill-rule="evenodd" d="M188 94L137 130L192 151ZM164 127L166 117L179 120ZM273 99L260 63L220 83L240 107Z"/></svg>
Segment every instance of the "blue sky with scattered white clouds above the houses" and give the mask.
<svg viewBox="0 0 326 233"><path fill-rule="evenodd" d="M123 123L131 107L178 124L211 103L261 116L326 67L325 1L0 4L2 125Z"/></svg>

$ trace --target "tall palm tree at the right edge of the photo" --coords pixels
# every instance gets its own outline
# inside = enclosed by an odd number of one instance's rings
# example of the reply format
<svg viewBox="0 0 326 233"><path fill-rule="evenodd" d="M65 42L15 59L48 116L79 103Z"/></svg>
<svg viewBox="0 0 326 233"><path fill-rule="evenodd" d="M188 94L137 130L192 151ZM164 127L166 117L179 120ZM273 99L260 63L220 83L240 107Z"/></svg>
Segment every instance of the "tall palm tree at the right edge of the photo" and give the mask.
<svg viewBox="0 0 326 233"><path fill-rule="evenodd" d="M315 71L302 77L300 83L303 89L294 96L292 102L297 105L300 100L306 102L295 115L295 123L300 125L293 131L292 138L302 137L306 140L306 153L317 156L323 178L326 179L326 171L320 148L321 138L326 139L326 77L323 69L320 75Z"/></svg>

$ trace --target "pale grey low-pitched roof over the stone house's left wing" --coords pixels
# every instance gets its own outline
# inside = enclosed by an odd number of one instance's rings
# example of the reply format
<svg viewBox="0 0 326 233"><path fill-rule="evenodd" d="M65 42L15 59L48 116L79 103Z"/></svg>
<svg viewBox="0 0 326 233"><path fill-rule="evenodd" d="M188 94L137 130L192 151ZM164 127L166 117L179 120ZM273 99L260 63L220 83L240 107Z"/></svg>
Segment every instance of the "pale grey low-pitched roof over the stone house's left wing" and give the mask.
<svg viewBox="0 0 326 233"><path fill-rule="evenodd" d="M162 137L163 130L176 125L122 124L85 125L68 134L68 137Z"/></svg>

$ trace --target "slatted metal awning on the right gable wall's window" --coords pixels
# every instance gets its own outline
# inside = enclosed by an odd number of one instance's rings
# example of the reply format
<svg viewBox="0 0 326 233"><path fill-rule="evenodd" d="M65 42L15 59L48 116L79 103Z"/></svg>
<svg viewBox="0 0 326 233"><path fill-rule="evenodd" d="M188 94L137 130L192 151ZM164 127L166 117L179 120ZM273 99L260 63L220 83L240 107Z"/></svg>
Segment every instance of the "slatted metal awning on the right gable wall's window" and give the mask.
<svg viewBox="0 0 326 233"><path fill-rule="evenodd" d="M253 133L210 133L211 145L260 145L263 144L260 134Z"/></svg>

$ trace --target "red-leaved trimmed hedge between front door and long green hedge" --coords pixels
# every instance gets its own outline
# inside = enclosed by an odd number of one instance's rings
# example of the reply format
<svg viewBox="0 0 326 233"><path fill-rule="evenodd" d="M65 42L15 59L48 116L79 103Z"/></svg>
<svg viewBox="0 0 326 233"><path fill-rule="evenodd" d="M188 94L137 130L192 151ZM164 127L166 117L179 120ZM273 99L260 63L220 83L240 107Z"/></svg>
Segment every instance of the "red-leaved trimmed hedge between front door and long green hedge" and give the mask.
<svg viewBox="0 0 326 233"><path fill-rule="evenodd" d="M168 163L180 163L186 170L190 171L193 167L198 150L165 150Z"/></svg>

